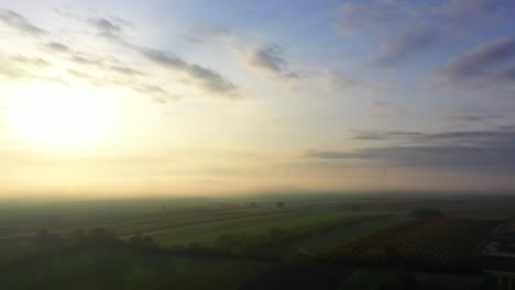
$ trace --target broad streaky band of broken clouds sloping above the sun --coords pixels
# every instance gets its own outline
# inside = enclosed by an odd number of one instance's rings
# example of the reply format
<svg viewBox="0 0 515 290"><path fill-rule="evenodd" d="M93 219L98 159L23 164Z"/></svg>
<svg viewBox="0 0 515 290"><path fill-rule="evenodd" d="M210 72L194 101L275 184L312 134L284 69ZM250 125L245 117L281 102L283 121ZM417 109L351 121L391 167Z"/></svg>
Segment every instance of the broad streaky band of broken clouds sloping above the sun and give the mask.
<svg viewBox="0 0 515 290"><path fill-rule="evenodd" d="M46 42L44 44L41 44L40 41L34 42L34 47L43 46L46 48L44 52L40 52L40 55L43 57L47 56L47 58L53 60L59 58L58 62L54 62L56 66L52 67L52 74L50 74L50 70L47 71L48 74L42 71L39 77L32 72L29 74L25 66L35 65L36 58L43 59L42 57L28 54L23 58L20 58L18 64L12 63L14 60L6 60L10 62L10 64L2 69L1 74L3 77L19 80L43 80L47 76L61 71L62 76L70 79L80 79L92 86L117 89L130 88L138 93L158 97L160 100L163 100L166 99L165 97L169 97L169 88L166 88L168 86L163 83L164 76L162 71L151 70L152 74L142 72L145 71L145 67L156 64L173 72L179 72L174 74L175 76L171 74L172 82L168 81L168 83L175 83L182 88L190 87L206 96L223 97L227 99L241 98L238 87L216 69L186 62L164 51L142 48L143 45L124 34L125 27L133 27L134 25L123 19L113 16L84 18L75 13L65 13L61 10L56 10L56 12L68 19L68 21L74 21L78 25L81 25L79 27L83 27L83 30L92 31L94 35L96 33L96 35L109 41L109 48L102 46L101 49L95 49L94 47L90 52L85 52L81 43L87 37L90 37L88 36L91 35L90 33L81 35L81 37L77 37L73 42L68 42L66 37L61 37L31 24L24 16L14 11L0 10L0 21L9 26L34 35L45 34ZM125 52L124 55L113 57L112 55L117 54L117 46L129 48L132 54ZM133 59L141 56L146 62L140 63L136 69L134 68ZM43 60L39 62L39 65L43 69ZM198 91L191 94L198 94ZM169 99L177 98L175 96Z"/></svg>

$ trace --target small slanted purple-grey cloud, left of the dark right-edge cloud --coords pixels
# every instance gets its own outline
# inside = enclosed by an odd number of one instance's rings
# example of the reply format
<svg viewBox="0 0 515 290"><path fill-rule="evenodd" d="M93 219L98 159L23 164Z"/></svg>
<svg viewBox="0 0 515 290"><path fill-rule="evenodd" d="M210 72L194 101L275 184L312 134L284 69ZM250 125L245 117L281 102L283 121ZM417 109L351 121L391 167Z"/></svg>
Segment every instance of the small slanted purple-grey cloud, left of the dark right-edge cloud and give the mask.
<svg viewBox="0 0 515 290"><path fill-rule="evenodd" d="M373 62L374 67L388 67L409 55L420 53L430 47L437 40L434 29L417 27L399 35L392 36L382 43L383 55Z"/></svg>

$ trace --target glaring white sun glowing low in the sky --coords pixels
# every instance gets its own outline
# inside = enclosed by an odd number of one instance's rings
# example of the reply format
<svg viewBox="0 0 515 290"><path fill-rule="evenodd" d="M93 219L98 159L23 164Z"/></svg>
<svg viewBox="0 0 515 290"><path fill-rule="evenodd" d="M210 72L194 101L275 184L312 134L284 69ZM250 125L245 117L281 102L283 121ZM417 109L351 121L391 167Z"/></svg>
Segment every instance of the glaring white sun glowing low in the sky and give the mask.
<svg viewBox="0 0 515 290"><path fill-rule="evenodd" d="M111 132L114 103L97 88L37 85L20 88L8 99L13 134L40 146L102 142Z"/></svg>

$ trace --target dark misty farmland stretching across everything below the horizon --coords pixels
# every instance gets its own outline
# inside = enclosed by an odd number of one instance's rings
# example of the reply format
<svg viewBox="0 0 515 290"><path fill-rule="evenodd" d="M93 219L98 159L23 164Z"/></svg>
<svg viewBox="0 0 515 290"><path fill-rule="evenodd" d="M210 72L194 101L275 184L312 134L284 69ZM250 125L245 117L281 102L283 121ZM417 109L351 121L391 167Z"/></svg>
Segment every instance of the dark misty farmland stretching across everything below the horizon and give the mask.
<svg viewBox="0 0 515 290"><path fill-rule="evenodd" d="M0 289L493 289L481 254L514 205L430 194L1 203Z"/></svg>

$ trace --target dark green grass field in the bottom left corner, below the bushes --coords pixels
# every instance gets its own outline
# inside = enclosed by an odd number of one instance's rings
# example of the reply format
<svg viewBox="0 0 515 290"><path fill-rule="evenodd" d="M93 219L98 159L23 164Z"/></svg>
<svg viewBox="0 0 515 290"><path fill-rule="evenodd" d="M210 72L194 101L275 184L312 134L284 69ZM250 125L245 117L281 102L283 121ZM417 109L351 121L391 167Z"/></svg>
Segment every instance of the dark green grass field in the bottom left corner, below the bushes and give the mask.
<svg viewBox="0 0 515 290"><path fill-rule="evenodd" d="M269 267L256 260L96 248L2 271L0 289L238 289Z"/></svg>

